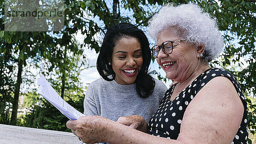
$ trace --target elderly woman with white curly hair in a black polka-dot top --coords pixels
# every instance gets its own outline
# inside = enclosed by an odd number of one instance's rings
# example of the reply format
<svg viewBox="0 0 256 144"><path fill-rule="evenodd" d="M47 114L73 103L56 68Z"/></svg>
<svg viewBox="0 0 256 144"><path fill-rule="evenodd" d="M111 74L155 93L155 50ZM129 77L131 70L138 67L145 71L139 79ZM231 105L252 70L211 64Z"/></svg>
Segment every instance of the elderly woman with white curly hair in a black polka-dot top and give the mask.
<svg viewBox="0 0 256 144"><path fill-rule="evenodd" d="M148 29L157 40L154 57L167 78L178 82L149 123L139 115L117 122L84 116L67 127L86 143L247 143L247 106L238 81L208 66L224 46L215 20L195 4L167 5Z"/></svg>

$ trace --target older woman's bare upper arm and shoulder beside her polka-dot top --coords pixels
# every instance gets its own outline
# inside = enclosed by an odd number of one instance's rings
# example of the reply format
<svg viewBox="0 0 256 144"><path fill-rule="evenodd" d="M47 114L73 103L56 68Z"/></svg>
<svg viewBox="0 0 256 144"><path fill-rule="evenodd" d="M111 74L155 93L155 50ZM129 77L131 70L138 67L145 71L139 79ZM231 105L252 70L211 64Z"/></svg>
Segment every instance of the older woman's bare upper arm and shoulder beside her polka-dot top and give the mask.
<svg viewBox="0 0 256 144"><path fill-rule="evenodd" d="M206 135L210 138L205 139L206 143L230 143L239 129L243 112L243 104L230 79L224 76L212 78L186 108L179 137L190 135L202 141L201 135Z"/></svg>

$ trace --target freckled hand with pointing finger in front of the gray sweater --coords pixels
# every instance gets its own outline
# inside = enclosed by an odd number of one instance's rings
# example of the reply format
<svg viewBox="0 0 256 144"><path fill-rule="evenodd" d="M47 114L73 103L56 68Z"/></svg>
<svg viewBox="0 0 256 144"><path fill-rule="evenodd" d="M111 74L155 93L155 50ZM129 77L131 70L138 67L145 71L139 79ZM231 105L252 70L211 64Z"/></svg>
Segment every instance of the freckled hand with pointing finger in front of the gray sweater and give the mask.
<svg viewBox="0 0 256 144"><path fill-rule="evenodd" d="M134 128L136 130L140 130L142 132L148 131L148 124L145 119L140 115L119 117L116 122Z"/></svg>

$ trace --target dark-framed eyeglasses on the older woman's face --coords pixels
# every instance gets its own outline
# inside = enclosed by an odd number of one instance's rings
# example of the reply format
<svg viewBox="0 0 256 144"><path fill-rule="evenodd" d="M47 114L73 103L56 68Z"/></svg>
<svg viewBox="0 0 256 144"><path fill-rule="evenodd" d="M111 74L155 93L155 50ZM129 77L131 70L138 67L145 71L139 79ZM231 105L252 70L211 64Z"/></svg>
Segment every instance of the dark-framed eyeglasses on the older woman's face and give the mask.
<svg viewBox="0 0 256 144"><path fill-rule="evenodd" d="M172 53L172 49L173 49L173 43L174 42L181 42L181 41L185 41L185 40L174 40L174 41L165 41L163 42L160 46L155 45L151 48L152 54L155 58L157 58L158 53L160 52L160 50L163 50L163 53L165 53L166 55Z"/></svg>

